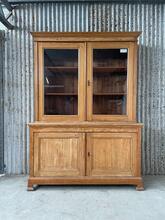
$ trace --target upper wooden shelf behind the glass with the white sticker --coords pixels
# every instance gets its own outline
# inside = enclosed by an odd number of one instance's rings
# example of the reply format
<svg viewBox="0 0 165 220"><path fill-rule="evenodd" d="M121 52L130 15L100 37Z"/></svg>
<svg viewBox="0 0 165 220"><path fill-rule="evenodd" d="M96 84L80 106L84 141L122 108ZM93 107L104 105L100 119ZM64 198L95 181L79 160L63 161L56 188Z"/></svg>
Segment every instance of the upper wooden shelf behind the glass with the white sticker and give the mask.
<svg viewBox="0 0 165 220"><path fill-rule="evenodd" d="M93 67L95 73L126 73L127 67Z"/></svg>

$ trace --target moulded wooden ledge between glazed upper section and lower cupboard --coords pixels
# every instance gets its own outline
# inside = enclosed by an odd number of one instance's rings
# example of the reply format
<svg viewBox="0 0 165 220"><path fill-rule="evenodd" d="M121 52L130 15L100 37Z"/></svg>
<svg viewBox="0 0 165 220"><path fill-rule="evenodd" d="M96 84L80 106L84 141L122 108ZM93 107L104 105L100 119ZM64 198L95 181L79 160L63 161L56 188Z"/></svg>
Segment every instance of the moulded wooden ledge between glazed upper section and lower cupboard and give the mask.
<svg viewBox="0 0 165 220"><path fill-rule="evenodd" d="M34 132L117 132L117 133L132 133L138 132L138 129L143 126L142 123L128 123L128 122L34 122L29 124Z"/></svg>

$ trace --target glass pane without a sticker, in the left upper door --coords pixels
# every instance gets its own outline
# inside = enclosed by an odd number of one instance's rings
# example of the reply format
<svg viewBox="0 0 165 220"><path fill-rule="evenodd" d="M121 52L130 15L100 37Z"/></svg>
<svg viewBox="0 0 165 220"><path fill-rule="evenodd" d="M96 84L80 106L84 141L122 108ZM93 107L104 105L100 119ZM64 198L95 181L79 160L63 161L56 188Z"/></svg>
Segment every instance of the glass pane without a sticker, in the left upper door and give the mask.
<svg viewBox="0 0 165 220"><path fill-rule="evenodd" d="M77 49L44 49L44 114L78 114Z"/></svg>

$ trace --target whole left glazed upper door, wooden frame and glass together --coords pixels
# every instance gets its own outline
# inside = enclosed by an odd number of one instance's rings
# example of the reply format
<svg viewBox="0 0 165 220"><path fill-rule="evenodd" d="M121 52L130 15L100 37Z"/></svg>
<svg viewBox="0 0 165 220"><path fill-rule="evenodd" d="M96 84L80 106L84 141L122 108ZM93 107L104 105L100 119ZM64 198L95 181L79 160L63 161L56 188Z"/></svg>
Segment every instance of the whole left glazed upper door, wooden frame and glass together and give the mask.
<svg viewBox="0 0 165 220"><path fill-rule="evenodd" d="M84 120L85 53L84 43L38 44L39 120Z"/></svg>

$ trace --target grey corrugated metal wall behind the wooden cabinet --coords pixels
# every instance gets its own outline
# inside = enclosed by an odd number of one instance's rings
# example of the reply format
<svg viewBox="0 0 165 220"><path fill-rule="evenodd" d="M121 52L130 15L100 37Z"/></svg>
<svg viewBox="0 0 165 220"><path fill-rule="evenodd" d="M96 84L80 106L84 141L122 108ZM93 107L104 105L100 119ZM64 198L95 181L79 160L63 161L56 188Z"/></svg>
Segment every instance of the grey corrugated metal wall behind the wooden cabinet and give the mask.
<svg viewBox="0 0 165 220"><path fill-rule="evenodd" d="M30 31L142 31L138 61L138 121L144 123L142 167L165 174L165 4L36 3L19 5L6 32L4 147L8 174L28 172L33 121Z"/></svg>

